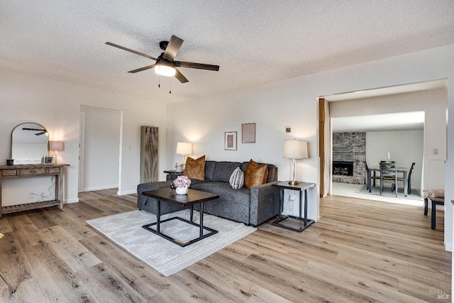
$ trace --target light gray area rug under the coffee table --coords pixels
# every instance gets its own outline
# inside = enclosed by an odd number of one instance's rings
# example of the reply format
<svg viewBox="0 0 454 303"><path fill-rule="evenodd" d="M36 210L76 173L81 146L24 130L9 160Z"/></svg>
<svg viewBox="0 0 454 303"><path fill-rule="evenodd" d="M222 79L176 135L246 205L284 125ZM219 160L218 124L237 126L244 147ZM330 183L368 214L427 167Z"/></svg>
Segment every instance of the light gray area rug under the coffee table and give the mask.
<svg viewBox="0 0 454 303"><path fill-rule="evenodd" d="M189 209L162 215L161 220L172 216L189 220ZM154 214L137 210L87 220L86 222L166 277L257 230L257 228L242 223L204 214L204 226L214 228L218 233L182 248L142 228L143 225L155 221L156 216ZM194 222L199 223L198 211L194 211ZM165 222L161 224L160 228L161 232L167 236L175 237L180 241L187 241L199 236L198 227L185 224L179 220Z"/></svg>

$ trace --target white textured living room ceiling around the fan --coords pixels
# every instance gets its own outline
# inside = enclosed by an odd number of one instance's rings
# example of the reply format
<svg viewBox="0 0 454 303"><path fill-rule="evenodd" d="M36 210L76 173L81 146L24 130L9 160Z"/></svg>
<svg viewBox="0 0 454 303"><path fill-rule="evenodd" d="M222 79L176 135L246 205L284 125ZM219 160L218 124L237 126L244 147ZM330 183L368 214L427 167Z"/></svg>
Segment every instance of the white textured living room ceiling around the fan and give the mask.
<svg viewBox="0 0 454 303"><path fill-rule="evenodd" d="M153 101L180 101L454 43L454 1L1 0L0 67ZM189 79L127 71L184 40ZM172 94L169 94L169 87Z"/></svg>

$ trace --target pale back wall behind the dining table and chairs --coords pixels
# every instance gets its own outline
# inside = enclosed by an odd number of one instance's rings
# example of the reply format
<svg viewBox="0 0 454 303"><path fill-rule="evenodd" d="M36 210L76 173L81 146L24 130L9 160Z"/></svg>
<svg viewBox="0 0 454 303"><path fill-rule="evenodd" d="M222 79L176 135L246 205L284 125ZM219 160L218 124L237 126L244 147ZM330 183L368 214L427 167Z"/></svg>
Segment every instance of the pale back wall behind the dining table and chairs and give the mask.
<svg viewBox="0 0 454 303"><path fill-rule="evenodd" d="M366 161L370 167L378 166L382 160L390 160L397 163L398 167L410 169L411 163L415 162L411 172L411 188L421 189L421 175L423 172L423 131L368 131L366 133ZM403 188L399 182L399 188Z"/></svg>

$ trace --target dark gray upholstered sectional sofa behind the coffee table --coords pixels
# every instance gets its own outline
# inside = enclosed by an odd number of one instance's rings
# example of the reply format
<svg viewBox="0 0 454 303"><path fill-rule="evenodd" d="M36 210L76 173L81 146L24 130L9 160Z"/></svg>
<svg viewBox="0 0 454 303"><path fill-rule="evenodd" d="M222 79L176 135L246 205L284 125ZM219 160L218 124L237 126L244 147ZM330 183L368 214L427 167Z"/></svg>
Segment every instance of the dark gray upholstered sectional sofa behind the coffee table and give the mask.
<svg viewBox="0 0 454 303"><path fill-rule="evenodd" d="M205 180L192 180L192 189L211 192L219 199L204 204L204 212L221 216L244 224L258 226L278 214L279 189L272 186L277 182L277 167L267 165L268 178L265 184L252 189L241 187L233 189L229 183L230 176L236 167L245 172L248 162L206 161ZM156 199L146 197L142 192L170 187L172 180L139 184L137 187L138 209L156 213ZM178 205L161 203L161 214L178 211ZM194 206L194 209L198 209Z"/></svg>

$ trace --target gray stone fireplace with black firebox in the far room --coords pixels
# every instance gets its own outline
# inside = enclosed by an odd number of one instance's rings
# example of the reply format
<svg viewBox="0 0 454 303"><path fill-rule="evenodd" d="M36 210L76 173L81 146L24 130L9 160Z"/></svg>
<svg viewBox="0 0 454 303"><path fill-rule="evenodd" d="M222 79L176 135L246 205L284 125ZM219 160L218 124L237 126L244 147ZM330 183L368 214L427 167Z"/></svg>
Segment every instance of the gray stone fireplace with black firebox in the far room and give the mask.
<svg viewBox="0 0 454 303"><path fill-rule="evenodd" d="M333 133L333 182L365 184L366 133Z"/></svg>

